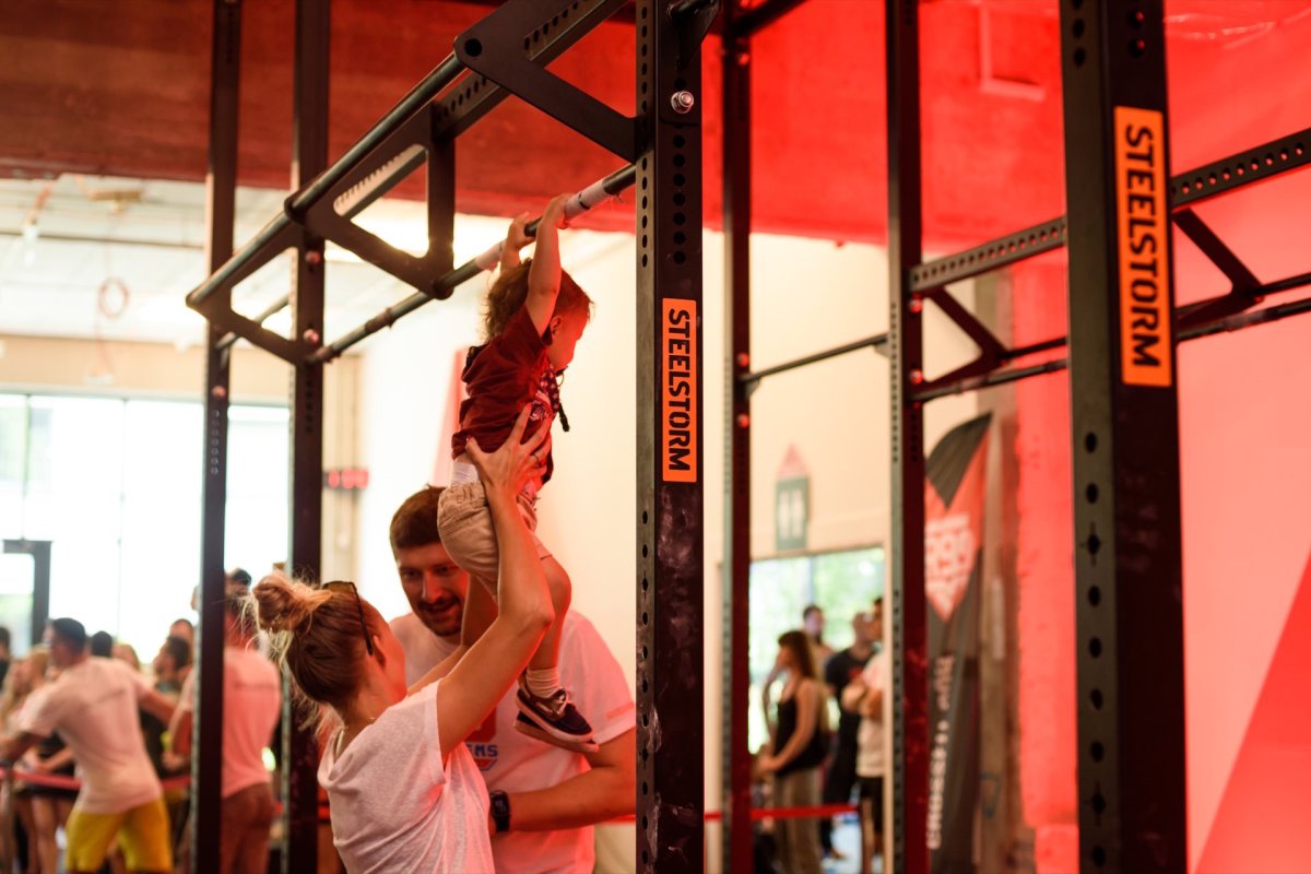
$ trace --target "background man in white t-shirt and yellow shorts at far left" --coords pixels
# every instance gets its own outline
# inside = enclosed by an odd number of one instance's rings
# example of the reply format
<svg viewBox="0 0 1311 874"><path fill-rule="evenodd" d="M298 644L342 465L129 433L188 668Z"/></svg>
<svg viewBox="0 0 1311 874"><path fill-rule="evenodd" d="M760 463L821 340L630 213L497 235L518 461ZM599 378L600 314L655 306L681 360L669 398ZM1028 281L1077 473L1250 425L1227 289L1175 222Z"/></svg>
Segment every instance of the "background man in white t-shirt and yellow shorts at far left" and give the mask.
<svg viewBox="0 0 1311 874"><path fill-rule="evenodd" d="M77 620L51 620L46 643L59 679L33 693L0 755L13 761L52 731L73 751L83 786L66 827L68 871L100 870L115 835L130 870L170 871L164 789L146 755L138 708L168 722L173 702L127 664L90 656Z"/></svg>

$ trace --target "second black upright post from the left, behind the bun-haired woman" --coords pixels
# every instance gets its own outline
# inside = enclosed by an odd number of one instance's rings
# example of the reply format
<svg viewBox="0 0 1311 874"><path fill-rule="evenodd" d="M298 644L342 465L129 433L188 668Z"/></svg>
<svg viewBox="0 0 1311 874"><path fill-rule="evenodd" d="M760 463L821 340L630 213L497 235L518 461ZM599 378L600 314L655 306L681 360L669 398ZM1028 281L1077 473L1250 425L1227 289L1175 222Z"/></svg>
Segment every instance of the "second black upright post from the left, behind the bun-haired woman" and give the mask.
<svg viewBox="0 0 1311 874"><path fill-rule="evenodd" d="M302 189L328 165L329 0L296 0L295 132L291 186ZM307 354L323 342L324 242L302 232L291 305L292 341ZM317 579L323 529L323 366L295 364L291 401L291 569ZM319 857L319 764L312 732L291 713L282 718L286 874L313 871Z"/></svg>

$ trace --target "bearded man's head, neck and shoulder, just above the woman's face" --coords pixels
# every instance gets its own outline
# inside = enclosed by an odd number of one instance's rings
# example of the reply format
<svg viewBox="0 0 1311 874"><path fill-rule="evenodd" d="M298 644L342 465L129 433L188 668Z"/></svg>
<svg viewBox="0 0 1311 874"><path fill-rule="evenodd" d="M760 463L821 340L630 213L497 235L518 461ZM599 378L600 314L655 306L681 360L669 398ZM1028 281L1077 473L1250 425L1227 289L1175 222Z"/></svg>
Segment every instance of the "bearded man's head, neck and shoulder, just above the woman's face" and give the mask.
<svg viewBox="0 0 1311 874"><path fill-rule="evenodd" d="M405 649L405 681L410 685L460 645L460 621L469 575L451 560L437 529L437 502L446 489L426 486L401 503L392 516L389 539L396 573L410 612L392 620L392 634Z"/></svg>

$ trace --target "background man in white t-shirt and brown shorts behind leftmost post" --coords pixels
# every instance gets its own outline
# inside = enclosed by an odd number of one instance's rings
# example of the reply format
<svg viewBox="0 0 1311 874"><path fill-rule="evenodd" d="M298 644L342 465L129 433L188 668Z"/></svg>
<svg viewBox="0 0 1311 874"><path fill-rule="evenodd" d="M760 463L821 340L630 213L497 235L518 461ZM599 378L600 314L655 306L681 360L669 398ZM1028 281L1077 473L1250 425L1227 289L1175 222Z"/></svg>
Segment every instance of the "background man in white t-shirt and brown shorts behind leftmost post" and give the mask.
<svg viewBox="0 0 1311 874"><path fill-rule="evenodd" d="M264 750L282 714L282 677L256 649L254 618L245 612L245 586L228 583L223 601L223 776L219 844L220 874L262 874L269 866L269 828L274 819L273 789ZM186 676L169 736L173 752L191 752L195 715L195 672ZM184 836L178 866L190 870L191 829Z"/></svg>

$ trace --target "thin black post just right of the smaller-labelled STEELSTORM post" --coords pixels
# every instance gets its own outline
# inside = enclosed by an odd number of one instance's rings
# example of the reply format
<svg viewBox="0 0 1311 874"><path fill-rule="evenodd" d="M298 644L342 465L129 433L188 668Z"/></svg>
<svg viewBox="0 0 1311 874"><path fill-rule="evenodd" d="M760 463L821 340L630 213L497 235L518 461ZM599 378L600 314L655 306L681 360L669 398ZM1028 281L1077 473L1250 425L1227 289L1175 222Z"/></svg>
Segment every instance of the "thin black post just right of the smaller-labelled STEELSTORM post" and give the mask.
<svg viewBox="0 0 1311 874"><path fill-rule="evenodd" d="M728 464L724 468L724 870L751 870L751 39L724 26L724 288Z"/></svg>

